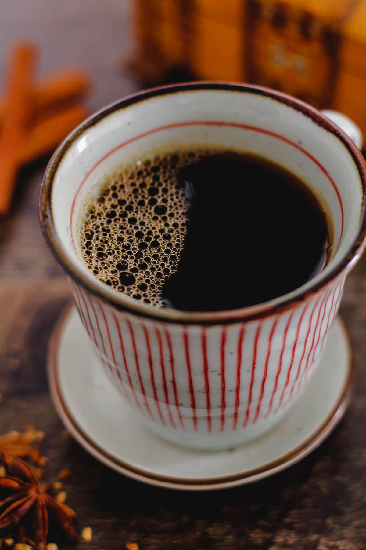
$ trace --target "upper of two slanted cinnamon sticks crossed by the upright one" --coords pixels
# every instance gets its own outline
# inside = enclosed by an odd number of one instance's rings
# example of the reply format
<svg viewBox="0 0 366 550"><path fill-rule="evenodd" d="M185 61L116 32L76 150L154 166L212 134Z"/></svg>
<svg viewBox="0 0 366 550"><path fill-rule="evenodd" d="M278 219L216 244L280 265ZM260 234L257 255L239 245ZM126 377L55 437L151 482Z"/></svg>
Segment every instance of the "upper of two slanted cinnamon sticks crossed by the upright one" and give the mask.
<svg viewBox="0 0 366 550"><path fill-rule="evenodd" d="M47 76L35 85L32 105L35 116L63 103L80 100L91 86L90 78L79 69L62 70L52 76ZM4 98L0 98L0 123L6 112Z"/></svg>

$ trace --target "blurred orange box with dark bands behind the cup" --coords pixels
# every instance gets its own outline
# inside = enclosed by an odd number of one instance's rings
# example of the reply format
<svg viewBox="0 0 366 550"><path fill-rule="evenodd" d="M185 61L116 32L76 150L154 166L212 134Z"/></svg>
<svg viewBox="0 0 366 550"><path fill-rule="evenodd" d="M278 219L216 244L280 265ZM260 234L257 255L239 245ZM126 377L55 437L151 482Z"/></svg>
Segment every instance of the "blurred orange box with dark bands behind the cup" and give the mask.
<svg viewBox="0 0 366 550"><path fill-rule="evenodd" d="M366 0L134 0L133 68L273 87L366 132ZM184 77L183 77L184 78Z"/></svg>

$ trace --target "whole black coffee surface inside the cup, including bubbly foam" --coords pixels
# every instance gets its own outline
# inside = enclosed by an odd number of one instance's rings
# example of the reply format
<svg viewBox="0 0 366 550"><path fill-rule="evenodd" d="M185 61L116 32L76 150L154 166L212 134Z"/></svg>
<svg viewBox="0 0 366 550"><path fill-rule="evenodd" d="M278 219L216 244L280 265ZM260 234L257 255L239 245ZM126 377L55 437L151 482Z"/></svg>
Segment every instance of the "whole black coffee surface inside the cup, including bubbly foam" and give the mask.
<svg viewBox="0 0 366 550"><path fill-rule="evenodd" d="M289 171L240 152L160 153L116 169L81 216L83 259L137 300L218 311L286 294L323 270L329 224Z"/></svg>

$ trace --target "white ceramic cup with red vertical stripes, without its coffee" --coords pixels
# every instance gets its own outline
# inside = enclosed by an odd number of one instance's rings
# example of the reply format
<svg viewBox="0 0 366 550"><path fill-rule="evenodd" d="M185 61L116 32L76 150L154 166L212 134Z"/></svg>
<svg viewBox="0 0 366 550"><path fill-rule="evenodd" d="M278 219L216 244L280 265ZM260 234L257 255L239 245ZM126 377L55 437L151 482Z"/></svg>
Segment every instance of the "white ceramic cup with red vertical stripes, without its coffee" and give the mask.
<svg viewBox="0 0 366 550"><path fill-rule="evenodd" d="M189 143L261 155L305 180L333 223L324 270L267 303L209 313L149 306L94 277L77 249L88 191L117 163ZM345 278L365 246L365 174L356 145L322 113L247 85L134 94L60 145L41 187L43 232L69 277L100 367L151 430L188 447L222 449L259 436L290 410L317 368Z"/></svg>

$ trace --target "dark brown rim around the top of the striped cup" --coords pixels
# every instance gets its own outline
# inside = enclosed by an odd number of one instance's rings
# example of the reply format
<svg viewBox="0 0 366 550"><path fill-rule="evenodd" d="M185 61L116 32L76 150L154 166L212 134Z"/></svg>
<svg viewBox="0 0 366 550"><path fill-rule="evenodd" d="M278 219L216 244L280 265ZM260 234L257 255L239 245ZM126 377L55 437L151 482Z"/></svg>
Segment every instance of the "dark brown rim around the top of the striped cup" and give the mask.
<svg viewBox="0 0 366 550"><path fill-rule="evenodd" d="M132 300L124 296L122 293L116 293L110 290L108 287L104 290L97 285L97 279L95 278L95 284L91 280L89 281L83 276L83 273L79 272L72 262L66 257L63 251L63 245L57 238L57 232L55 229L52 213L52 188L54 177L59 167L59 164L63 160L67 150L80 137L86 130L95 126L100 120L109 116L110 114L120 111L123 108L127 108L136 103L149 100L152 97L164 96L170 94L176 94L180 92L199 91L199 90L219 90L230 92L246 92L256 95L262 95L264 97L271 98L280 103L284 103L286 106L300 111L307 117L311 118L314 123L319 127L324 128L331 134L334 134L345 145L348 152L351 154L353 161L359 173L359 177L362 183L363 200L360 221L357 228L357 232L354 235L352 243L348 246L347 252L336 263L333 270L321 281L312 285L310 288L304 290L298 295L280 296L275 300L268 301L266 303L258 304L255 306L243 307L240 309L229 311L213 311L213 312L189 312L172 309L162 309L157 307L151 307L148 305L140 304L137 300ZM311 299L320 290L325 289L335 279L342 277L348 272L362 255L362 252L366 246L366 163L361 151L348 138L348 136L337 127L331 120L326 118L318 109L307 105L307 103L297 100L294 97L283 94L275 90L271 90L262 86L252 86L247 84L231 84L221 82L193 82L185 84L159 86L142 92L136 92L123 98L122 100L111 103L109 106L101 109L97 113L94 113L91 117L80 124L69 136L59 145L58 149L54 152L53 156L47 165L46 172L44 174L39 197L39 213L40 223L43 231L43 235L46 238L47 244L52 251L53 255L63 267L64 271L74 279L78 284L85 288L88 292L102 298L106 303L109 303L116 309L122 311L128 311L136 315L148 317L154 320L173 322L173 323L185 323L185 324L226 324L230 322L243 322L255 320L258 318L268 317L275 313L280 313L287 309L292 309ZM315 280L315 279L314 279ZM109 291L109 292L108 292ZM283 298L283 299L282 299ZM280 300L280 301L278 301ZM276 303L273 303L273 302Z"/></svg>

